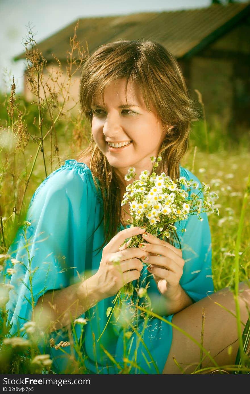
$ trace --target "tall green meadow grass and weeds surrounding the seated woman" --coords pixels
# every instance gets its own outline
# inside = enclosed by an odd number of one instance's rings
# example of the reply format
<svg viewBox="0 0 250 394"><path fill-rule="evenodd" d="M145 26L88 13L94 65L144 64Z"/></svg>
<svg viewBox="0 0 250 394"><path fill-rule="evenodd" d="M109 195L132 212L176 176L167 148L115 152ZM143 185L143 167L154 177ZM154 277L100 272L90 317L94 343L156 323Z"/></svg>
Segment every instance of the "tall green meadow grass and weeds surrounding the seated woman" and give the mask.
<svg viewBox="0 0 250 394"><path fill-rule="evenodd" d="M46 176L59 168L69 158L76 158L77 154L89 141L89 126L78 111L69 111L65 102L59 100L60 94L64 95L68 89L70 78L81 65L84 51L80 48L78 62L69 60L69 72L65 84L61 85L59 92L55 93L52 88L47 89L44 81L44 67L46 59L38 62L40 56L35 52L35 43L29 41L33 56L33 65L28 69L30 83L33 83L34 100L27 102L23 97L15 94L15 81L12 84L10 95L0 96L0 255L6 255L9 246L13 242L16 231L25 218L30 199L39 184ZM79 54L79 43L72 43L72 53ZM84 55L85 56L85 55ZM71 63L70 63L71 61ZM43 67L41 67L41 64ZM32 77L32 78L31 78ZM54 78L53 75L49 76ZM32 82L33 81L33 82ZM39 83L41 85L39 85ZM40 86L40 91L37 89ZM41 97L43 86L44 97ZM37 92L37 93L36 93ZM65 96L64 96L65 97ZM76 108L79 103L76 103ZM206 182L219 195L217 207L220 216L208 217L212 237L212 275L215 290L230 286L235 295L237 309L237 324L239 328L240 316L237 305L238 284L250 277L250 144L249 133L237 141L230 139L220 124L210 126L206 120L205 108L204 119L195 121L192 126L189 149L183 158L181 165L196 175L201 182ZM0 264L4 264L1 257ZM32 275L32 273L31 273ZM32 288L32 280L31 280ZM2 319L0 326L0 370L2 373L53 373L50 370L51 360L41 355L37 344L40 335L39 329L30 327L28 340L22 341L17 333L16 338L8 338L9 325L7 323L8 312L5 309L7 298L0 294L2 303ZM148 306L148 305L147 305ZM146 316L154 316L149 308L138 307ZM161 318L160 316L157 316ZM161 318L162 319L162 318ZM146 324L145 320L145 324ZM179 329L176 327L176 329ZM76 335L72 324L71 336ZM139 333L137 339L142 341ZM186 334L188 335L188 334ZM129 335L127 335L129 336ZM249 327L246 326L244 336L239 334L239 365L228 366L229 373L249 373L248 364L249 346L246 339L249 337ZM9 339L6 342L6 338ZM41 339L41 338L40 338ZM49 341L48 336L48 341ZM129 338L128 338L129 339ZM16 340L16 342L11 342ZM18 342L19 341L19 342ZM8 343L9 342L9 343ZM77 342L77 341L76 341ZM65 354L65 348L58 346L58 351ZM71 369L69 373L85 373L85 356L81 353L78 343L75 347L77 357L72 351L69 354ZM201 354L207 355L206 349L201 343L197 344ZM110 361L116 365L116 361L104 349ZM146 352L146 349L145 349ZM40 357L40 358L39 358ZM152 360L154 362L154 360ZM178 363L178 360L176 361ZM117 366L120 373L128 373L131 366L130 355L124 355L124 365ZM215 367L210 369L210 373ZM197 367L196 373L209 373L202 369L202 360Z"/></svg>

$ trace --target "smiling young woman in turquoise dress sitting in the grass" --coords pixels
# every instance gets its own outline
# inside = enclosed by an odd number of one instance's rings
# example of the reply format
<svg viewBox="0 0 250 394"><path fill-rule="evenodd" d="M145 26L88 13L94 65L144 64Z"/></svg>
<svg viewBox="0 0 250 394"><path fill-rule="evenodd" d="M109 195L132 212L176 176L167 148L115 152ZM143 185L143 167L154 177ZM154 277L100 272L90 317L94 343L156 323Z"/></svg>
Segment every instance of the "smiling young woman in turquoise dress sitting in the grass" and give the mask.
<svg viewBox="0 0 250 394"><path fill-rule="evenodd" d="M87 373L191 373L200 362L204 308L207 353L202 366L233 364L238 349L235 301L228 289L213 292L207 214L202 222L190 216L176 223L179 242L170 243L130 227L129 207L121 207L130 183L124 178L128 168L134 167L137 177L152 172L151 156L162 157L159 174L199 182L180 164L196 113L178 63L152 41L103 45L83 66L80 102L91 124L90 144L35 191L26 225L9 250L23 263L15 265L11 277L11 333L35 319L55 343L69 341L63 352L43 349L51 352L56 373L74 371L69 355L80 338L82 357L78 352L75 358ZM121 247L138 234L143 244ZM30 275L32 294L24 285ZM116 321L113 314L107 324L107 309L131 281L147 287L157 317L145 324L145 316L134 313L127 301L123 316ZM243 331L248 284L241 283L240 290ZM142 305L136 290L132 301ZM80 317L87 319L81 320L87 322L83 327L72 323Z"/></svg>

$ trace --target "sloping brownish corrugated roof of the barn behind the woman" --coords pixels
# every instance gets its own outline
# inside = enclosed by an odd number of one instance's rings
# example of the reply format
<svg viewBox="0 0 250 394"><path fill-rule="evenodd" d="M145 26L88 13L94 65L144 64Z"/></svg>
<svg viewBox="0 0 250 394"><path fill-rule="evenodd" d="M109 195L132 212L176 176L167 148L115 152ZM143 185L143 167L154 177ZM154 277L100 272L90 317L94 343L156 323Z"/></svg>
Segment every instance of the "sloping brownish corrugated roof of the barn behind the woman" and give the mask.
<svg viewBox="0 0 250 394"><path fill-rule="evenodd" d="M198 53L249 16L250 2L213 4L199 9L83 18L79 19L76 34L81 45L86 47L87 43L89 53L119 39L151 39L180 59ZM53 60L52 54L66 61L76 23L77 20L37 44L47 61ZM25 52L14 60L24 58Z"/></svg>

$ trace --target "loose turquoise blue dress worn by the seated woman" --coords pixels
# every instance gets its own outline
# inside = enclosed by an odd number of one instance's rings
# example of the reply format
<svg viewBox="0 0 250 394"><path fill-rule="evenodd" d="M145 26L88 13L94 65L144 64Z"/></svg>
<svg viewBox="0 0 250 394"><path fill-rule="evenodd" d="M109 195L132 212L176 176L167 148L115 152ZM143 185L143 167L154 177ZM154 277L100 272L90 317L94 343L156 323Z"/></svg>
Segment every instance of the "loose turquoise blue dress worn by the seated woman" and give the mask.
<svg viewBox="0 0 250 394"><path fill-rule="evenodd" d="M180 166L181 176L199 182L190 171ZM193 215L177 223L185 260L180 284L194 301L202 299L208 292L213 292L211 234L207 214L203 213L201 216L202 222ZM26 266L29 266L27 249L29 251L30 272L33 274L33 305L43 291L70 286L80 280L79 275L86 272L94 274L98 270L102 258L102 251L98 251L98 248L104 242L103 226L99 225L102 217L102 198L94 186L91 170L83 163L66 160L64 165L52 172L37 188L26 217L30 222L30 226L26 227L26 240L24 229L20 228L8 251L11 258L22 261ZM184 228L187 231L181 233ZM121 226L118 231L122 229ZM26 244L28 246L24 247ZM7 263L6 267L13 267L10 260ZM11 334L18 333L22 325L31 320L32 310L30 290L24 285L26 283L30 286L29 272L21 264L16 264L15 270L16 273L11 275L10 280L14 288L9 292L10 299L7 303L9 320L12 323ZM148 294L156 301L156 305L159 304L159 292L146 267L140 281L141 286L150 281ZM130 374L161 374L171 346L172 327L159 318L150 318L146 327L143 318L137 319L136 328L143 337L142 342L138 341L135 333L129 337L125 333L124 324L120 324L119 320L114 324L115 317L112 316L113 320L107 325L100 341L93 343L93 333L97 339L107 323L106 311L113 306L113 299L114 297L104 299L81 315L88 319L87 325L75 325L74 341L79 341L83 330L81 352L87 373L117 374L120 371L117 365L121 368L124 366L125 354L133 362ZM127 310L130 310L129 304ZM172 315L163 318L171 322ZM53 336L56 343L68 340L63 331L55 331ZM51 354L53 359L54 372L65 373L69 358L60 350L46 344L44 346L41 346L43 351ZM110 361L102 346L117 364ZM70 352L72 348L71 344L65 347L64 351Z"/></svg>

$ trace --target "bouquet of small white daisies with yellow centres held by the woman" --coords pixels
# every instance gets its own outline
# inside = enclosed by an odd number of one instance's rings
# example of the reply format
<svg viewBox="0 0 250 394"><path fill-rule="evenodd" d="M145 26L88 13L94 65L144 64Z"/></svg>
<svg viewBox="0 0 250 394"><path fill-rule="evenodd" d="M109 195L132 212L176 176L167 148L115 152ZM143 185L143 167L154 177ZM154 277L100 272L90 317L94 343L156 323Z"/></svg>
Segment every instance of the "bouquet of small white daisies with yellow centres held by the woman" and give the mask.
<svg viewBox="0 0 250 394"><path fill-rule="evenodd" d="M214 208L219 196L210 191L210 186L202 183L200 187L198 182L185 177L173 180L165 173L157 175L155 170L160 160L161 156L157 159L151 157L151 175L147 170L142 171L139 180L135 180L137 174L134 167L129 168L125 175L126 180L134 179L126 187L121 203L122 206L129 204L131 227L145 227L147 232L158 238L171 238L171 234L176 233L177 221L190 215L196 215L202 221L202 212L216 212L219 215L218 208ZM196 189L198 192L191 192ZM141 236L134 236L129 247L138 247L141 242L144 242Z"/></svg>

